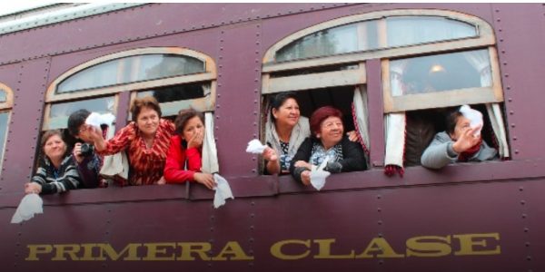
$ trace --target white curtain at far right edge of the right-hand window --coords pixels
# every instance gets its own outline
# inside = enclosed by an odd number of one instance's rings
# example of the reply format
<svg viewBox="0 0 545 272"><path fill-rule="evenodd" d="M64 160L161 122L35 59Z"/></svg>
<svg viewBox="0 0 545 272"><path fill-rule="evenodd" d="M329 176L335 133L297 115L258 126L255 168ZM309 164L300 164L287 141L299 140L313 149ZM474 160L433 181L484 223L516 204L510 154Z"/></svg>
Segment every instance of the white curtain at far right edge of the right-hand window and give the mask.
<svg viewBox="0 0 545 272"><path fill-rule="evenodd" d="M464 57L471 63L473 68L481 73L481 87L492 86L492 70L488 50L466 52L464 53ZM500 103L487 103L486 110L489 114L492 131L494 131L494 135L498 141L500 157L508 158L510 157L509 146L507 144L507 133L500 110Z"/></svg>

